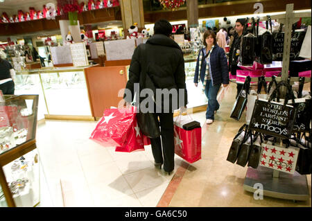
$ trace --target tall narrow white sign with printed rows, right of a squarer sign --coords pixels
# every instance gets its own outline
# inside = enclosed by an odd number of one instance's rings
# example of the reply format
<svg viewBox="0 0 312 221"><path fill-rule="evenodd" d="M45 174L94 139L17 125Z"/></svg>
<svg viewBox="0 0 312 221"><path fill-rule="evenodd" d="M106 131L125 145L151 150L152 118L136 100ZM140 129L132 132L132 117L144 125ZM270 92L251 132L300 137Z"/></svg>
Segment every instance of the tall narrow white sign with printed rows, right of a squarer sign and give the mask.
<svg viewBox="0 0 312 221"><path fill-rule="evenodd" d="M85 43L75 43L71 44L71 56L73 58L73 67L81 67L89 65L87 50L85 48Z"/></svg>

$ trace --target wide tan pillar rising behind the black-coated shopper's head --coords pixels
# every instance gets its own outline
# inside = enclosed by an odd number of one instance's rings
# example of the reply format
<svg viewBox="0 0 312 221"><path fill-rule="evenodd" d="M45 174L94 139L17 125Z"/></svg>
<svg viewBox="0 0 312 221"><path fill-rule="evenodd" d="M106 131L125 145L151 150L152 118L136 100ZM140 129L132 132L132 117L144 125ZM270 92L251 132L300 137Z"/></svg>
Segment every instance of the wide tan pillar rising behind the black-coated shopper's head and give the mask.
<svg viewBox="0 0 312 221"><path fill-rule="evenodd" d="M125 36L128 35L128 28L134 23L137 23L138 28L144 28L143 0L119 0L119 3Z"/></svg>

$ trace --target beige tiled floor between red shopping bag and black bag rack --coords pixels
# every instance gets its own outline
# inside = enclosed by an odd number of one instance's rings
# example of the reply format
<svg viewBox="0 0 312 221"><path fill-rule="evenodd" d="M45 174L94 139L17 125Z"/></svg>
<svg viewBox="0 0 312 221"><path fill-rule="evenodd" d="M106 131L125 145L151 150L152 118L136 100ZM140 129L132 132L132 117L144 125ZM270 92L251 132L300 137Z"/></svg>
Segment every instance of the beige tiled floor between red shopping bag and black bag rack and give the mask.
<svg viewBox="0 0 312 221"><path fill-rule="evenodd" d="M168 206L311 206L311 175L307 176L310 192L307 202L295 203L272 197L254 200L252 193L243 190L247 166L243 168L226 160L232 140L245 121L245 112L240 121L229 118L235 95L236 85L231 83L215 122L203 134L202 159L187 166L182 179L178 177L180 184Z"/></svg>

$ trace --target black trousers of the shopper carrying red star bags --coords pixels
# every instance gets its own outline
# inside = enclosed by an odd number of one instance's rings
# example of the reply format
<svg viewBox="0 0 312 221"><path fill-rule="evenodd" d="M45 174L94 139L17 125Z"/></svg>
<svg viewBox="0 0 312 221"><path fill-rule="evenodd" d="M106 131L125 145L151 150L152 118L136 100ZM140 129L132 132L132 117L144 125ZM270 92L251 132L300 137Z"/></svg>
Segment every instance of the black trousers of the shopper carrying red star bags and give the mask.
<svg viewBox="0 0 312 221"><path fill-rule="evenodd" d="M160 137L156 139L150 139L153 156L155 163L164 163L164 170L166 172L171 172L175 168L173 113L155 114L156 116L159 116L159 125L162 139L160 139Z"/></svg>

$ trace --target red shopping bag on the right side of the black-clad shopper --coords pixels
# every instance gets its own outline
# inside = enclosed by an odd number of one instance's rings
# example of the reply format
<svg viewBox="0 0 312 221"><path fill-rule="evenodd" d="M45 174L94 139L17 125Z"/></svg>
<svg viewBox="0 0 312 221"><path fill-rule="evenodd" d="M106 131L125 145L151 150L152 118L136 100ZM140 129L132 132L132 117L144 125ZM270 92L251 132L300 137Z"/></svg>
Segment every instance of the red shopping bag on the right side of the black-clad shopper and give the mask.
<svg viewBox="0 0 312 221"><path fill-rule="evenodd" d="M174 125L175 154L189 163L201 159L202 155L202 128L184 130Z"/></svg>

